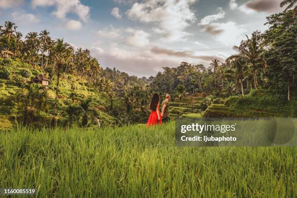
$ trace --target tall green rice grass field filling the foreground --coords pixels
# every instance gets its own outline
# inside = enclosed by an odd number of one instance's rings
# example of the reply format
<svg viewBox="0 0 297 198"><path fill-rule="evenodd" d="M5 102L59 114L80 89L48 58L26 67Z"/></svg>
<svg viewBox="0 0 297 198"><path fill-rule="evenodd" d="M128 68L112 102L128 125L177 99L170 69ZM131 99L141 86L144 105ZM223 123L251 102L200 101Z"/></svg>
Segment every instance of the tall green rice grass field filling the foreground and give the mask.
<svg viewBox="0 0 297 198"><path fill-rule="evenodd" d="M0 132L0 187L38 197L296 197L297 148L180 148L174 122Z"/></svg>

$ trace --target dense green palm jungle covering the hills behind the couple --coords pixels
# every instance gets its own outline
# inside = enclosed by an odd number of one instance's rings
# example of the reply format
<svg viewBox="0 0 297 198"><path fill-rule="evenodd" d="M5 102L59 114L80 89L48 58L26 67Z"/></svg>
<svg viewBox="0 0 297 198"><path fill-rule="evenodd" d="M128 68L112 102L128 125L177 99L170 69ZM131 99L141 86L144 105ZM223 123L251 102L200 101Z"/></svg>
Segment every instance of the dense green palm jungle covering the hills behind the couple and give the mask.
<svg viewBox="0 0 297 198"><path fill-rule="evenodd" d="M1 127L144 123L153 92L172 95L173 117L296 116L296 16L292 10L271 15L265 25L267 31L246 36L224 63L182 62L137 78L103 68L90 50L52 39L47 30L23 36L6 21L0 26ZM31 83L39 74L49 78L48 87Z"/></svg>

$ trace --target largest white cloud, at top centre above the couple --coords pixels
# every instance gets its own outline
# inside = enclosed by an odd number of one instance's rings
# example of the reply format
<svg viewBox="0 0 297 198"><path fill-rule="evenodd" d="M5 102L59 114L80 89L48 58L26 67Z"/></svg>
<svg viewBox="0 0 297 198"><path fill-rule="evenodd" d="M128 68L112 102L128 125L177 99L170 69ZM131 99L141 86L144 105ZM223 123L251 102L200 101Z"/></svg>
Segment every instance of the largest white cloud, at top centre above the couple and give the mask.
<svg viewBox="0 0 297 198"><path fill-rule="evenodd" d="M168 41L185 40L185 29L196 20L190 6L197 0L146 0L134 3L126 14L133 20L156 23ZM161 30L161 31L160 31Z"/></svg>

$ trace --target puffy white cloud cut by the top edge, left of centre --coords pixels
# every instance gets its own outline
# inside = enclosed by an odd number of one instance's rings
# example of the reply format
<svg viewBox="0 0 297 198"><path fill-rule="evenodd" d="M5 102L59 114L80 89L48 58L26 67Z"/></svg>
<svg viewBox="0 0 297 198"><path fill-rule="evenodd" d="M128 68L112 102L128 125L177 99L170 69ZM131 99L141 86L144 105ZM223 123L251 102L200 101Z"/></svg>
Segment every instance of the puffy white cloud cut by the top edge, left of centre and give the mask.
<svg viewBox="0 0 297 198"><path fill-rule="evenodd" d="M33 7L36 6L55 6L53 12L58 18L66 18L68 13L77 14L82 21L86 22L89 18L89 6L82 5L80 0L32 0Z"/></svg>

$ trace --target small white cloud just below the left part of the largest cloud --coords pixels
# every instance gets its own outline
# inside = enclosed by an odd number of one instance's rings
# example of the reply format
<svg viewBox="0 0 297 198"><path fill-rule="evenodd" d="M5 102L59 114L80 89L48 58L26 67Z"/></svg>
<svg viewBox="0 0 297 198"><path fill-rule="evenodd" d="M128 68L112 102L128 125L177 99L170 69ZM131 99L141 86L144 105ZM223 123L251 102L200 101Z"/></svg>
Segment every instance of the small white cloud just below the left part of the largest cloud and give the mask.
<svg viewBox="0 0 297 198"><path fill-rule="evenodd" d="M132 47L147 47L149 45L149 33L146 33L143 30L135 30L132 28L128 28L126 30L127 33L132 33L132 36L128 36L126 42L128 45Z"/></svg>

